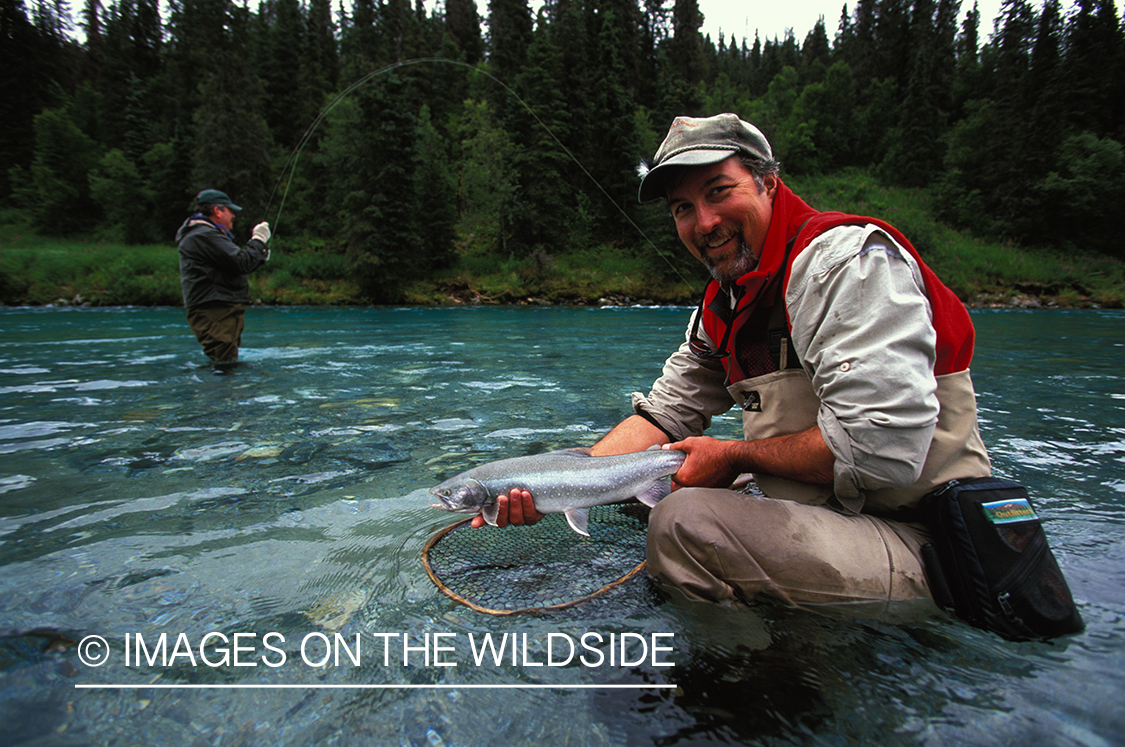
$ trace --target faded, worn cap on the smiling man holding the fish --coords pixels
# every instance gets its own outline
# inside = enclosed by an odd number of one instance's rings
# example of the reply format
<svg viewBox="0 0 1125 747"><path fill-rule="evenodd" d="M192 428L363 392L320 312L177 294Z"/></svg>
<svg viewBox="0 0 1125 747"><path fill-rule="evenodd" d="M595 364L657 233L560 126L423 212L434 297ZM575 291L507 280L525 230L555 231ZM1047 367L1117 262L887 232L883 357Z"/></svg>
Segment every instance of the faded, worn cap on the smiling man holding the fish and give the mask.
<svg viewBox="0 0 1125 747"><path fill-rule="evenodd" d="M773 148L762 132L735 114L713 117L676 117L660 143L652 166L640 180L641 202L665 196L668 166L702 166L745 153L759 161L773 160Z"/></svg>

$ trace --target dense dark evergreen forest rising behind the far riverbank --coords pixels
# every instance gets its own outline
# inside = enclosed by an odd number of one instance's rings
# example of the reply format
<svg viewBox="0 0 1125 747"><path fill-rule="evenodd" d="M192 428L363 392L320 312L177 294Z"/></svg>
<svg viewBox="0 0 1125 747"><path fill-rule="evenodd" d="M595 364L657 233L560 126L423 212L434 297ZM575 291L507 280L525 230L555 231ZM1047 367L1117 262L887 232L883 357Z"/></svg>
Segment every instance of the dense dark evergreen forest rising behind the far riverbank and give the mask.
<svg viewBox="0 0 1125 747"><path fill-rule="evenodd" d="M166 242L202 188L372 300L465 258L675 252L637 166L734 111L784 172L867 169L983 235L1120 258L1113 0L857 0L831 36L701 33L696 0L0 0L0 209ZM80 26L83 40L75 39ZM784 174L783 172L783 174Z"/></svg>

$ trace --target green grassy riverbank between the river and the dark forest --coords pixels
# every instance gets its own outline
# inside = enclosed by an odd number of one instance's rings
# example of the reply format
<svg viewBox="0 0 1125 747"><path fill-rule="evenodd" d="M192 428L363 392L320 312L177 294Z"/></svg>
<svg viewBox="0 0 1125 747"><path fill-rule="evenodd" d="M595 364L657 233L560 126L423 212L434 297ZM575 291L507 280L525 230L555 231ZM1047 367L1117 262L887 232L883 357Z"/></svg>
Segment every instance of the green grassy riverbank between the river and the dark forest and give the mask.
<svg viewBox="0 0 1125 747"><path fill-rule="evenodd" d="M789 178L813 207L873 215L898 226L942 280L971 306L1125 306L1125 262L983 241L933 218L924 190L893 189L862 172ZM670 228L669 228L670 230ZM596 246L530 258L462 256L404 289L403 300L448 304L691 303L705 274L684 256L658 250ZM273 258L251 276L262 304L367 303L348 262L323 242L273 244ZM168 245L124 246L94 240L39 237L0 226L0 303L168 305L180 302L178 256Z"/></svg>

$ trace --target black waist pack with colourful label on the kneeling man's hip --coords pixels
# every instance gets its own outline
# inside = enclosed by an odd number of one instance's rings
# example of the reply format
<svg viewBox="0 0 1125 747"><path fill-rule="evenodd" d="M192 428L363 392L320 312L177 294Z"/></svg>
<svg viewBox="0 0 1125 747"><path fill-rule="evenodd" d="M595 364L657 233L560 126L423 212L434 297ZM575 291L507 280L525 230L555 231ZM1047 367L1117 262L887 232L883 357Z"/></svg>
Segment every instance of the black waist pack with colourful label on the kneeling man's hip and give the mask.
<svg viewBox="0 0 1125 747"><path fill-rule="evenodd" d="M1009 640L1084 628L1027 490L994 477L952 480L921 500L934 601Z"/></svg>

